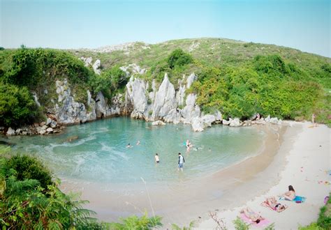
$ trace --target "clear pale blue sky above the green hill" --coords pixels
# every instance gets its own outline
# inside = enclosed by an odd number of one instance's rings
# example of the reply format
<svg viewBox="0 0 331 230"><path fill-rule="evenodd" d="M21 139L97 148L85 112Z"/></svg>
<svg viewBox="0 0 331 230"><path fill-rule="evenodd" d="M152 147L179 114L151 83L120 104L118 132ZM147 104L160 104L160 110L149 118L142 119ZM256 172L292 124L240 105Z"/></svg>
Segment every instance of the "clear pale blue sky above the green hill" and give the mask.
<svg viewBox="0 0 331 230"><path fill-rule="evenodd" d="M0 0L0 46L229 38L331 56L331 0Z"/></svg>

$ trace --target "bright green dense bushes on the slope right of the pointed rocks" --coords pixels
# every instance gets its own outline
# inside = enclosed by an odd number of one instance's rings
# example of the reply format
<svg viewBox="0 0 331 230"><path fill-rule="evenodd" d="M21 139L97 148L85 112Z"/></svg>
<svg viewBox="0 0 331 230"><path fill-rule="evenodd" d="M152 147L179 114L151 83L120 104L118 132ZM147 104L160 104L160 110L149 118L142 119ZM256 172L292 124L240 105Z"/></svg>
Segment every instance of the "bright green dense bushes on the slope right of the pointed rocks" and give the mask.
<svg viewBox="0 0 331 230"><path fill-rule="evenodd" d="M304 72L278 55L256 56L239 68L203 68L191 91L205 112L219 109L225 116L309 118L322 87L304 79Z"/></svg>

